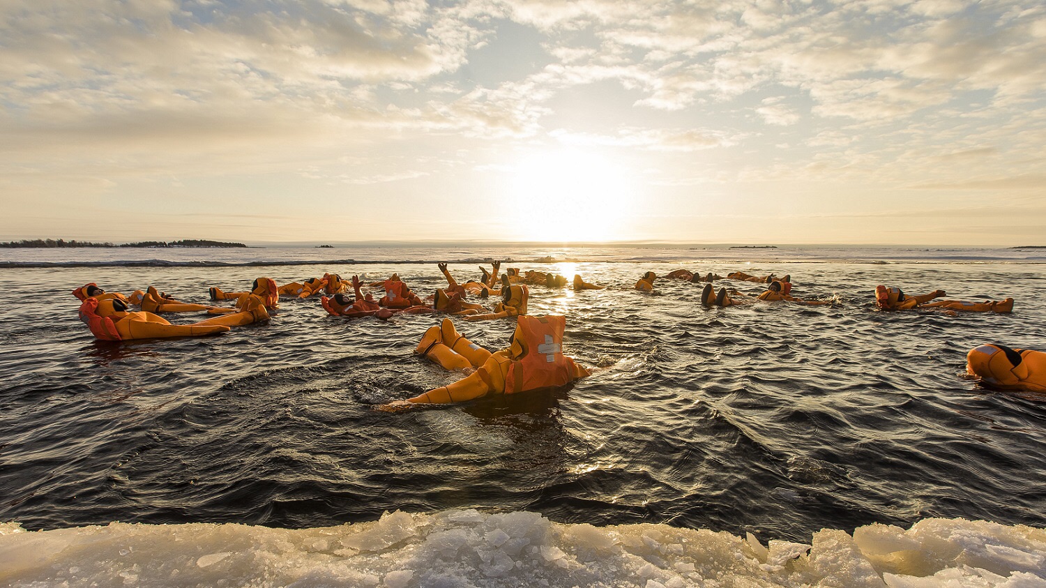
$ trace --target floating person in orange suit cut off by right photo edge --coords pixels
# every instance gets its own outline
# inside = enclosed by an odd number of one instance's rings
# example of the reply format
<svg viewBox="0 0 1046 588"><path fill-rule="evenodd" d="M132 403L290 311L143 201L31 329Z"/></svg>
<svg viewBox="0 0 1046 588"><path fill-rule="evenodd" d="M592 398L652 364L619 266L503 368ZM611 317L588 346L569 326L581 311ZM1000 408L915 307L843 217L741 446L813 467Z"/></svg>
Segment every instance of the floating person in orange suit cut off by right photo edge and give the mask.
<svg viewBox="0 0 1046 588"><path fill-rule="evenodd" d="M967 354L967 374L990 388L1046 392L1046 353L985 343Z"/></svg>

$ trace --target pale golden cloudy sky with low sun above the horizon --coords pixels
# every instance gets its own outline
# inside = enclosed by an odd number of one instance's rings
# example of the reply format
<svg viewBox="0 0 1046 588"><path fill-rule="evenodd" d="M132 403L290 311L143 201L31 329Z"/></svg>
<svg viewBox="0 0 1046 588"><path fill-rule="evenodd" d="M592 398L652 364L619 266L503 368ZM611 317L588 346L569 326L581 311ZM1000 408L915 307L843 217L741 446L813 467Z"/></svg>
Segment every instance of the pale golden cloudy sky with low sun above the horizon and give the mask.
<svg viewBox="0 0 1046 588"><path fill-rule="evenodd" d="M0 241L1046 245L1046 5L0 0Z"/></svg>

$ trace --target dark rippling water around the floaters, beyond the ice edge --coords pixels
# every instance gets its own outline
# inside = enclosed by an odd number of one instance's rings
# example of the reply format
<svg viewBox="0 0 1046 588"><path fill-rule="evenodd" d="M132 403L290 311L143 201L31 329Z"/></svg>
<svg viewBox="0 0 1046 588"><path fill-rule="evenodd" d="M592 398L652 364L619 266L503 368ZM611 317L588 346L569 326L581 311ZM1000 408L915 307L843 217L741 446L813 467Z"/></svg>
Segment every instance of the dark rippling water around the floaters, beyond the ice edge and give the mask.
<svg viewBox="0 0 1046 588"><path fill-rule="evenodd" d="M982 342L1046 349L1046 266L575 267L619 288L532 287L530 313L565 314L567 352L595 375L555 393L405 414L371 406L462 376L412 355L437 316L349 321L316 299L283 299L269 324L112 344L92 339L69 291L155 285L202 302L208 286L259 274L282 284L396 271L427 292L442 284L434 266L0 269L0 520L315 527L478 507L796 539L926 517L1046 523L1046 399L961 376L967 350ZM631 289L644 271L680 267L790 273L793 294L841 306L706 310L690 284ZM479 274L475 265L451 270ZM1013 315L881 313L878 284L1017 304ZM514 327L456 324L492 350Z"/></svg>

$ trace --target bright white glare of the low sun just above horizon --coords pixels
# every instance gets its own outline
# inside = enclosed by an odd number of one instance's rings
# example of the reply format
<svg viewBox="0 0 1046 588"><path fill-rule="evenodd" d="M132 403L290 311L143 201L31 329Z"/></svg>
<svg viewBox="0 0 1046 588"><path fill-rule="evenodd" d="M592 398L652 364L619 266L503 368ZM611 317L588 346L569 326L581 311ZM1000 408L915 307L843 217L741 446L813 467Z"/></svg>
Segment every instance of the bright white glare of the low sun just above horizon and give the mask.
<svg viewBox="0 0 1046 588"><path fill-rule="evenodd" d="M578 150L536 153L514 166L517 239L599 242L622 239L634 213L632 179L623 165Z"/></svg>

